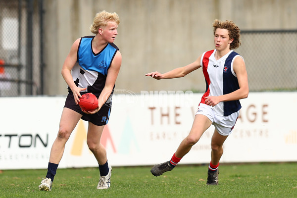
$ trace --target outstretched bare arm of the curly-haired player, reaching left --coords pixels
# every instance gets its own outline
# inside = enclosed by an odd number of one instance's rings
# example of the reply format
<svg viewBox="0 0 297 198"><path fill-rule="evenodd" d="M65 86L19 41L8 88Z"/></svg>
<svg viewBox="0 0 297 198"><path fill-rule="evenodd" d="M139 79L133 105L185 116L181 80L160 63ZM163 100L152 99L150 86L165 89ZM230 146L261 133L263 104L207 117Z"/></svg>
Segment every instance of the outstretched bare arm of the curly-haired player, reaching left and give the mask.
<svg viewBox="0 0 297 198"><path fill-rule="evenodd" d="M164 74L161 74L160 72L157 72L157 71L150 72L150 73L147 73L146 76L151 76L152 78L157 79L157 80L184 77L187 74L191 73L192 71L201 67L201 65L200 65L201 56L202 56L202 54L198 57L197 60L195 60L191 64L188 64L184 67L178 67L178 68L173 69L173 70L166 72Z"/></svg>

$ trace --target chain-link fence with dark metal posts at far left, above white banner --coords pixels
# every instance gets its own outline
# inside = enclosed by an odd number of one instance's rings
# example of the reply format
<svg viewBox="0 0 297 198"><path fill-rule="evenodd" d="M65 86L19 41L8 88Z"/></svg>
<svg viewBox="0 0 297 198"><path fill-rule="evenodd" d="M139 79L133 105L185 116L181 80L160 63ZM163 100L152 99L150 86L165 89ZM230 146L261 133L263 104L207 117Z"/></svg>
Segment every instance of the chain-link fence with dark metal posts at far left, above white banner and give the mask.
<svg viewBox="0 0 297 198"><path fill-rule="evenodd" d="M0 97L42 94L42 0L0 0Z"/></svg>

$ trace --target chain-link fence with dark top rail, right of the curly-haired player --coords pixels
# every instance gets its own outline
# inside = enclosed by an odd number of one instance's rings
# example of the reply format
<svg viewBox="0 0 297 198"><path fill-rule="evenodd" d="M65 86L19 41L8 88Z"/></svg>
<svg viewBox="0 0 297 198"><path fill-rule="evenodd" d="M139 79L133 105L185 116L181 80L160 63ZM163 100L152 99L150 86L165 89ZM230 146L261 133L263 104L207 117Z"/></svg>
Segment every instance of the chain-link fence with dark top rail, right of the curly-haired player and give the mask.
<svg viewBox="0 0 297 198"><path fill-rule="evenodd" d="M297 90L297 30L242 31L250 91Z"/></svg>

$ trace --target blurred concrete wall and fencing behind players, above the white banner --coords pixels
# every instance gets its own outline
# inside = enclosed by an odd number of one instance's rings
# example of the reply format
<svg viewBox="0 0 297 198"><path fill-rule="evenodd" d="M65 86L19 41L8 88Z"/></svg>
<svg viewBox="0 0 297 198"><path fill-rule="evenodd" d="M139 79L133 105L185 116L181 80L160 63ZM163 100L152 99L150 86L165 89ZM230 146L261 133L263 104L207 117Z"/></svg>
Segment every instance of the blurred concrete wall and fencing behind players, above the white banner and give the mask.
<svg viewBox="0 0 297 198"><path fill-rule="evenodd" d="M120 17L116 88L203 92L202 72L160 84L145 77L213 49L214 19L241 29L251 92L297 90L296 0L0 0L0 97L67 94L60 72L101 10Z"/></svg>

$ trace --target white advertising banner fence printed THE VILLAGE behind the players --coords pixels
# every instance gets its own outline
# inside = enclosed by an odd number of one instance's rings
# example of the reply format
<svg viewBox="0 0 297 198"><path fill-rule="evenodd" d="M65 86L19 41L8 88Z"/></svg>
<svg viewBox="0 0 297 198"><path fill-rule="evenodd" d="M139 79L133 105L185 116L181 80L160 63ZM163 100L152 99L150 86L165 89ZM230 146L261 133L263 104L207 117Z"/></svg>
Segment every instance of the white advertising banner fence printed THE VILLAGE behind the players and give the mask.
<svg viewBox="0 0 297 198"><path fill-rule="evenodd" d="M189 133L202 94L142 92L114 95L101 143L112 166L153 165L171 158ZM47 168L65 97L0 98L0 169ZM250 93L223 162L297 161L297 93ZM96 167L87 147L88 123L80 121L59 168ZM181 160L209 163L211 126Z"/></svg>

